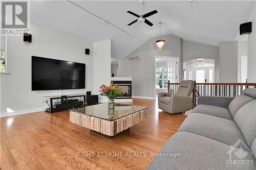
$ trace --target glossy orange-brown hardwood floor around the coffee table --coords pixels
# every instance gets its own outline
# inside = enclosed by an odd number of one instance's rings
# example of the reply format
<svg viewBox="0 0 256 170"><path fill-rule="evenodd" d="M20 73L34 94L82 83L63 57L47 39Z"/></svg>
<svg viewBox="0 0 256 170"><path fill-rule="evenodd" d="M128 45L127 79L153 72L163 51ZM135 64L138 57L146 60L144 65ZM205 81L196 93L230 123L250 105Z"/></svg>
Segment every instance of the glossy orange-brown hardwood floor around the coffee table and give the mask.
<svg viewBox="0 0 256 170"><path fill-rule="evenodd" d="M164 113L155 100L133 100L149 107L147 118L113 139L70 123L69 111L1 118L1 168L146 169L151 153L161 150L186 115Z"/></svg>

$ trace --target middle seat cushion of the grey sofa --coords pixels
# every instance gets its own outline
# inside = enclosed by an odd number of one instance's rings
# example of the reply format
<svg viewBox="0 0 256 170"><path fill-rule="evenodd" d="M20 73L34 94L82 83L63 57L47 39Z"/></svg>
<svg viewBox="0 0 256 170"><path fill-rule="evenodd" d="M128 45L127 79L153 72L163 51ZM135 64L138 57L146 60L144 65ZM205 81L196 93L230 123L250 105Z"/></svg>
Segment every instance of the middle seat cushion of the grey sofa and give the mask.
<svg viewBox="0 0 256 170"><path fill-rule="evenodd" d="M178 132L194 133L228 145L235 144L241 139L245 143L242 148L244 150L249 148L237 124L221 117L201 113L190 114L181 124Z"/></svg>

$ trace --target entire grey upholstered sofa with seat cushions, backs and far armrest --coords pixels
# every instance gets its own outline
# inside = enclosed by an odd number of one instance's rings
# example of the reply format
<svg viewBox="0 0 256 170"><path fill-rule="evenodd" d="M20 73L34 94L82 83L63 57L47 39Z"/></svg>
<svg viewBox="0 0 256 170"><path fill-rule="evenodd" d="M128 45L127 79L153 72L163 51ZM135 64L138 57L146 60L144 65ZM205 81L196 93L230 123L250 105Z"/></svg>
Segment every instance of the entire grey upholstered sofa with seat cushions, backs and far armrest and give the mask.
<svg viewBox="0 0 256 170"><path fill-rule="evenodd" d="M200 96L147 169L256 169L256 88L243 93Z"/></svg>

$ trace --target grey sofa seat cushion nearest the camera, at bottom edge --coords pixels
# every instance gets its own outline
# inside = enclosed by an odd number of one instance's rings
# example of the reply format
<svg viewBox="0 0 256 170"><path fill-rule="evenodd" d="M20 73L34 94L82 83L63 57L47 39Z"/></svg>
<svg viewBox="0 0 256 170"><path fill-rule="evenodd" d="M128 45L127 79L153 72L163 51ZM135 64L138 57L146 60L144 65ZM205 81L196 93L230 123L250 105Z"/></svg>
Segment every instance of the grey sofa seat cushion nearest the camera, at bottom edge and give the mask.
<svg viewBox="0 0 256 170"><path fill-rule="evenodd" d="M234 148L233 152L237 150L238 148ZM167 141L160 153L179 153L180 157L155 157L147 169L230 170L234 168L227 167L226 164L229 160L229 154L227 154L229 151L230 145L225 143L193 133L178 132ZM238 160L233 152L230 154L231 160ZM246 154L246 160L256 161L253 155L248 152ZM254 169L254 167L239 167L237 169Z"/></svg>

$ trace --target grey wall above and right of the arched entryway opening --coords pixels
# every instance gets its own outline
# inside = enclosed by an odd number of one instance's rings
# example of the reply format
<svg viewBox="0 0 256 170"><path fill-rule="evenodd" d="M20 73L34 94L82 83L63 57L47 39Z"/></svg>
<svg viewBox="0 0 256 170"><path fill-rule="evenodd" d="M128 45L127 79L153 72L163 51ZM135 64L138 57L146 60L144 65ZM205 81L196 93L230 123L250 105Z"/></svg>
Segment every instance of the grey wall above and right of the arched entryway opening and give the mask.
<svg viewBox="0 0 256 170"><path fill-rule="evenodd" d="M182 63L198 58L215 60L215 82L219 82L219 46L182 40Z"/></svg>

